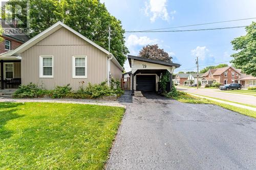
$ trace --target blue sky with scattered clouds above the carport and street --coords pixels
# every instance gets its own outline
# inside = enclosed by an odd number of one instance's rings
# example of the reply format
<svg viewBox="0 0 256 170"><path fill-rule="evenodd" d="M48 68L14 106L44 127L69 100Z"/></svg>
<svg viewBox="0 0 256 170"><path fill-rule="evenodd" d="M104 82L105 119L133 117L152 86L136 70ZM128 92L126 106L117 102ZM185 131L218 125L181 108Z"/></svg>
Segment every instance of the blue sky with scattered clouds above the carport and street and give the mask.
<svg viewBox="0 0 256 170"><path fill-rule="evenodd" d="M126 31L256 17L255 0L102 0L101 2L105 3L112 15L122 21ZM172 30L247 26L251 21L253 20ZM232 59L230 54L234 53L230 41L245 33L244 28L177 33L129 33L125 34L125 40L130 54L136 56L142 46L157 43L172 55L173 62L182 65L175 70L178 72L196 70L196 56L199 56L199 65L230 61ZM229 64L229 62L225 63ZM130 71L127 61L124 67L126 71ZM205 66L199 68L203 67Z"/></svg>

